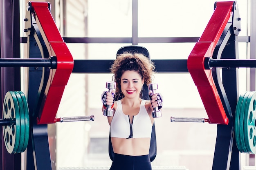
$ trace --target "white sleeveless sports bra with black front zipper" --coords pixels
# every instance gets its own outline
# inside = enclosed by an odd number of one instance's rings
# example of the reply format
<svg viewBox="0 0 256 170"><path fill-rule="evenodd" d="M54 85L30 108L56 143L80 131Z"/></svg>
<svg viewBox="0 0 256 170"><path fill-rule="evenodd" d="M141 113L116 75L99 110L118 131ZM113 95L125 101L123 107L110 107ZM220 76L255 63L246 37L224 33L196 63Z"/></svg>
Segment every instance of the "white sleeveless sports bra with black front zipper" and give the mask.
<svg viewBox="0 0 256 170"><path fill-rule="evenodd" d="M117 101L117 110L110 124L110 136L119 138L147 138L151 137L152 123L145 108L146 100L141 100L139 113L130 117L123 113L121 100Z"/></svg>

